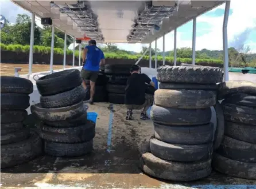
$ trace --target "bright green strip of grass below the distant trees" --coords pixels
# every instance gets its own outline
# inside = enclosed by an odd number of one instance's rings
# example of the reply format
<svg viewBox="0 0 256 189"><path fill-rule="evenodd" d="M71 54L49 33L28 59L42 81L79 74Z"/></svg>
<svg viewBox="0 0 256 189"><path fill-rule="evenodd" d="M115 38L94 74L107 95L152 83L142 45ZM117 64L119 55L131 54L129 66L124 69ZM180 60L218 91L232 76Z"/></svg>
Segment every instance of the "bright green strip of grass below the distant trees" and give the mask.
<svg viewBox="0 0 256 189"><path fill-rule="evenodd" d="M29 53L29 45L5 45L3 43L0 43L1 50L2 51L14 51L17 53ZM33 48L34 53L41 53L41 54L50 54L51 53L51 47L45 47L45 46L37 46L35 45ZM61 48L54 48L55 54L64 54L64 50ZM67 55L73 54L72 50L67 50ZM104 53L105 58L111 58L111 59L139 59L141 55L131 55L131 54L121 54L121 53L110 53L105 52ZM79 51L75 51L75 56L79 57ZM149 56L144 56L142 59L149 60ZM152 57L152 60L154 60L154 57ZM157 56L158 61L162 61L162 56ZM165 61L173 62L173 57L165 57ZM177 58L177 63L191 63L191 58ZM223 64L223 61L220 59L200 59L196 58L196 63L209 63L209 64Z"/></svg>

